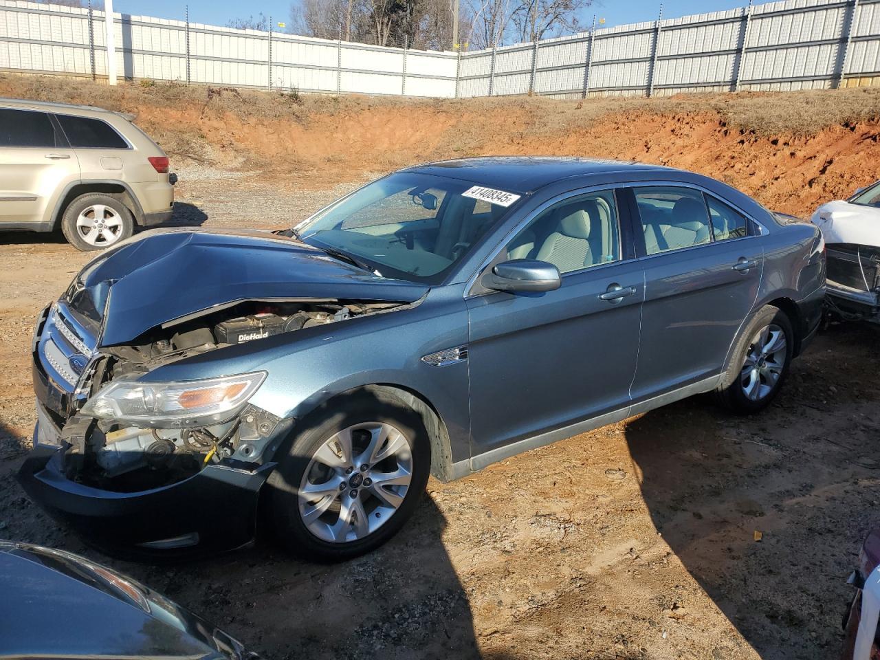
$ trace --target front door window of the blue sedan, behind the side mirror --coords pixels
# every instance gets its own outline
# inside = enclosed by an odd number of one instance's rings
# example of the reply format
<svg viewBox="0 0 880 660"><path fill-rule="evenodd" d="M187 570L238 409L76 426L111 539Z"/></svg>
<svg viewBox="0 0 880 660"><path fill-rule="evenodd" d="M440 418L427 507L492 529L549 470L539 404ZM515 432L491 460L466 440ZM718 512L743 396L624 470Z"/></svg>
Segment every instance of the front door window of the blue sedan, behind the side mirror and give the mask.
<svg viewBox="0 0 880 660"><path fill-rule="evenodd" d="M612 190L581 194L545 209L507 246L508 259L548 261L560 273L620 260Z"/></svg>

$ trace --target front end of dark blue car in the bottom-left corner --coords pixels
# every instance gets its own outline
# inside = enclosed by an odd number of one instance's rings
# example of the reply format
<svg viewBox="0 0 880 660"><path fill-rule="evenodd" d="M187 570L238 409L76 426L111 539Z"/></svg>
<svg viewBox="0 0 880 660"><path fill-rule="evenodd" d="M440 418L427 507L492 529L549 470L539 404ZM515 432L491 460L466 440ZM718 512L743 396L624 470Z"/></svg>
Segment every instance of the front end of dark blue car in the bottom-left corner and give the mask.
<svg viewBox="0 0 880 660"><path fill-rule="evenodd" d="M76 554L0 541L0 593L4 657L246 657L207 621Z"/></svg>

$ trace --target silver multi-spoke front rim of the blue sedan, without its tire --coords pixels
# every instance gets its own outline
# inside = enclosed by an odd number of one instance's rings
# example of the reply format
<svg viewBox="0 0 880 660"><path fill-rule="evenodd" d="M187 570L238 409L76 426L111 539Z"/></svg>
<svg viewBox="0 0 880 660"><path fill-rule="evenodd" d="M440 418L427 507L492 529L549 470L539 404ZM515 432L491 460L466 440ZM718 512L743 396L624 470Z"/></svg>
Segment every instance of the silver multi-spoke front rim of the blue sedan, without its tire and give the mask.
<svg viewBox="0 0 880 660"><path fill-rule="evenodd" d="M364 422L330 436L312 455L299 486L299 516L331 543L376 532L407 496L413 451L400 430Z"/></svg>

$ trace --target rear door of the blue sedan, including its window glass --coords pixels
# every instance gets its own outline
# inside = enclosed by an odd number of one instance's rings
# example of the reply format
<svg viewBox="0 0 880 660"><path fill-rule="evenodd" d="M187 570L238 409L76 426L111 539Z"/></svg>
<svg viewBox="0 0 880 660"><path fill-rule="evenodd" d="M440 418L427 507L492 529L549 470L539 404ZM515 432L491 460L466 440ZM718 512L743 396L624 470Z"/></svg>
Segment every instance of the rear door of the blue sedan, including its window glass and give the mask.
<svg viewBox="0 0 880 660"><path fill-rule="evenodd" d="M759 226L730 202L682 185L625 190L645 272L635 403L721 372L758 297L764 256Z"/></svg>

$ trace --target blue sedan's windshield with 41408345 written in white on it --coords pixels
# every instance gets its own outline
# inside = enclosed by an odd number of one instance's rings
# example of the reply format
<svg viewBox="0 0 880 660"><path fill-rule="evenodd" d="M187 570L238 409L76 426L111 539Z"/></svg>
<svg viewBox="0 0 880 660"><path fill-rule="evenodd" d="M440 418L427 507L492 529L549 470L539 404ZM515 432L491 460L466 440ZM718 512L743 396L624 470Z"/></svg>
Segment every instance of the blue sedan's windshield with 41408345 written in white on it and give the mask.
<svg viewBox="0 0 880 660"><path fill-rule="evenodd" d="M396 172L297 229L305 243L378 275L438 284L518 200L467 181Z"/></svg>

